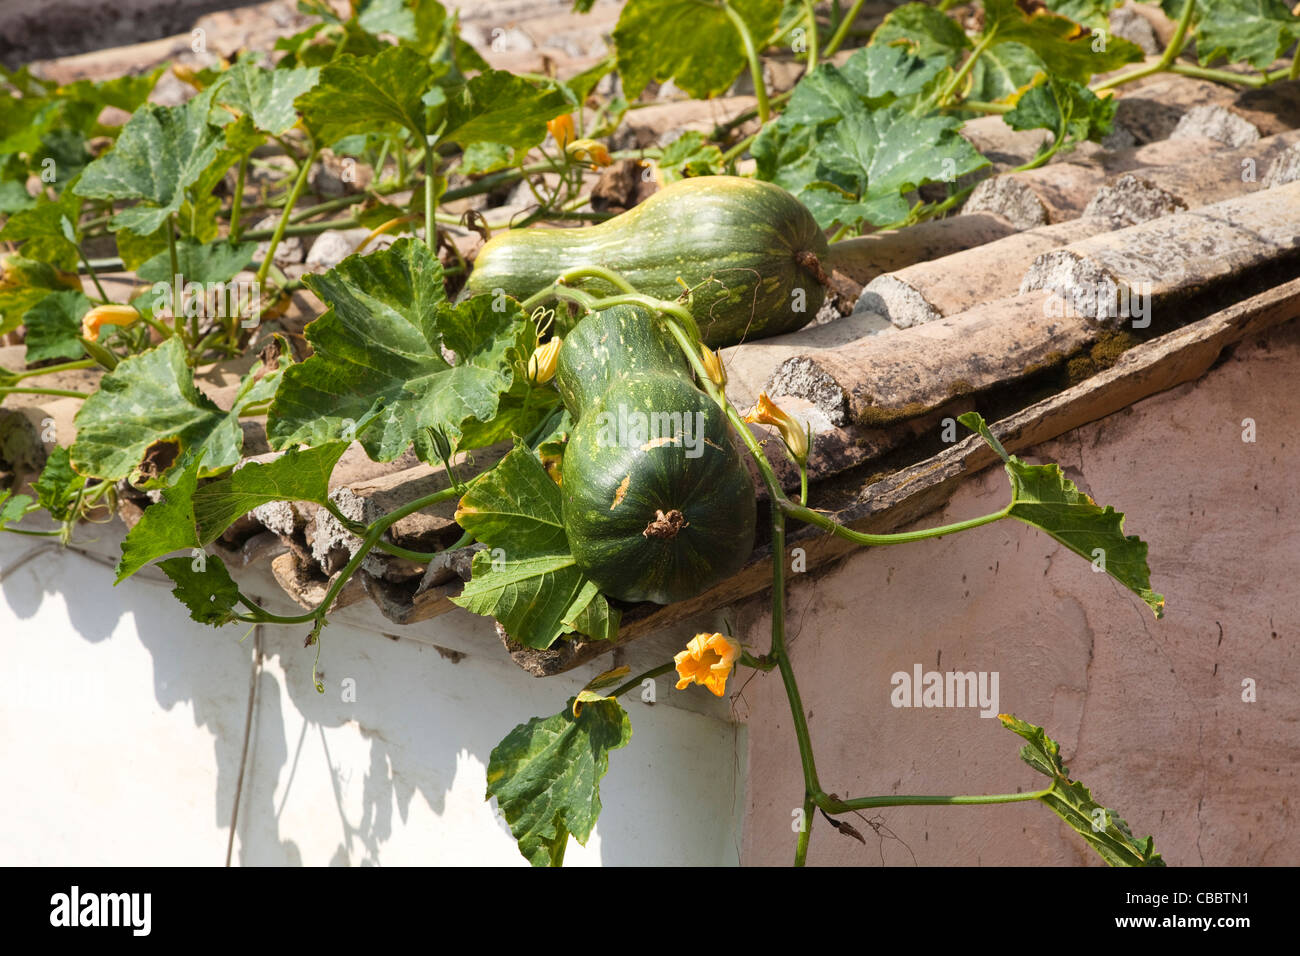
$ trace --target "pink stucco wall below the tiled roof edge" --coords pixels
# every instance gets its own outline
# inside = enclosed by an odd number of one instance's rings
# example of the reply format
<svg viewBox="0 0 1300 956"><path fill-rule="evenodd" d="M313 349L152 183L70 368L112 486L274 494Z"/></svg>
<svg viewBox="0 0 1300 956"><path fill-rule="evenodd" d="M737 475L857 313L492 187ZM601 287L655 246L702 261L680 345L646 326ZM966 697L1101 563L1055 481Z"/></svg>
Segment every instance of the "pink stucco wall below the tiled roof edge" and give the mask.
<svg viewBox="0 0 1300 956"><path fill-rule="evenodd" d="M1127 512L1150 545L1147 607L1048 536L1011 522L948 538L859 551L796 575L792 659L827 791L982 793L1037 790L1020 739L974 709L896 709L890 675L998 671L1002 711L1041 724L1076 779L1154 834L1171 864L1300 861L1300 323L1239 345L1197 382L1022 453L1056 460ZM1256 441L1243 441L1243 419ZM994 511L1000 468L926 524ZM741 614L750 646L770 614ZM746 675L748 676L748 675ZM1243 702L1243 680L1257 702ZM742 861L789 864L802 800L780 678L755 675ZM867 845L824 819L809 862L889 865L1100 864L1050 810L1000 806L871 812Z"/></svg>

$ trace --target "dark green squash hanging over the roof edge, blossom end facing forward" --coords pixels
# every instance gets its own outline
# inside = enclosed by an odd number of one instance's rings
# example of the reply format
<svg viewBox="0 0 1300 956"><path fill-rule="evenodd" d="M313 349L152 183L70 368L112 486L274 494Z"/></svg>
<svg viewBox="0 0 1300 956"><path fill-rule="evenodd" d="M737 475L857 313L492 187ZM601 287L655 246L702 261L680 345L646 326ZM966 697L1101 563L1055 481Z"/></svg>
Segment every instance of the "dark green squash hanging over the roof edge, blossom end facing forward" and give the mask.
<svg viewBox="0 0 1300 956"><path fill-rule="evenodd" d="M611 597L673 604L738 571L754 549L753 479L727 418L650 313L585 317L555 381L576 420L560 492L582 572Z"/></svg>

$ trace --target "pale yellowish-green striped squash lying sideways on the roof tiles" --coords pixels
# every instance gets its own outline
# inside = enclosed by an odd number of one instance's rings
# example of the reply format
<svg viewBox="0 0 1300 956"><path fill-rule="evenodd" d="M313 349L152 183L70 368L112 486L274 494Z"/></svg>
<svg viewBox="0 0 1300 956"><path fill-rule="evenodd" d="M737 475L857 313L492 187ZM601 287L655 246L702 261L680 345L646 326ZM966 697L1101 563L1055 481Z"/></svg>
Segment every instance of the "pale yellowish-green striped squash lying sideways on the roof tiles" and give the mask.
<svg viewBox="0 0 1300 956"><path fill-rule="evenodd" d="M467 289L526 299L569 269L599 265L637 291L676 299L706 345L803 328L826 299L826 235L803 204L770 182L738 176L680 179L620 216L584 229L515 229L478 252ZM597 295L603 280L573 282Z"/></svg>

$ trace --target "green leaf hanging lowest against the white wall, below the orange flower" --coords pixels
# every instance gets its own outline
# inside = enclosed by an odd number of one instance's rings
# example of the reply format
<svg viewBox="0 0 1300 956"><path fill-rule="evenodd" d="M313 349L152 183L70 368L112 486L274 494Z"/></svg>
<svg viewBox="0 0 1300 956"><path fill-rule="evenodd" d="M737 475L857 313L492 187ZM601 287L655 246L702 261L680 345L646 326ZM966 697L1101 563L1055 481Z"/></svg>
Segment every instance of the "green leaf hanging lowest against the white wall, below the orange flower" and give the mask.
<svg viewBox="0 0 1300 956"><path fill-rule="evenodd" d="M488 762L488 797L497 797L519 852L534 866L563 864L569 834L586 844L601 816L610 750L632 739L616 700L589 701L577 717L573 702L515 727Z"/></svg>

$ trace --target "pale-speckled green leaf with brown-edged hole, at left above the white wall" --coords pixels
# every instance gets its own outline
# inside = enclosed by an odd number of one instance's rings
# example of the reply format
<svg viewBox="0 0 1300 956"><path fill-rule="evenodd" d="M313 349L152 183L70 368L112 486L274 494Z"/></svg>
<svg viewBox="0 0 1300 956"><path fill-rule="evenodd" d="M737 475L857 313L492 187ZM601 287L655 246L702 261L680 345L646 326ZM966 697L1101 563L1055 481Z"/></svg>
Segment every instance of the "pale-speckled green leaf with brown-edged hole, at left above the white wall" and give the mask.
<svg viewBox="0 0 1300 956"><path fill-rule="evenodd" d="M225 410L195 386L179 339L131 355L100 380L77 412L73 467L91 477L150 483L168 481L200 457L204 475L229 468L243 446L239 414L270 398L287 362L286 349L278 368L246 375ZM150 473L142 475L147 451L153 458Z"/></svg>

